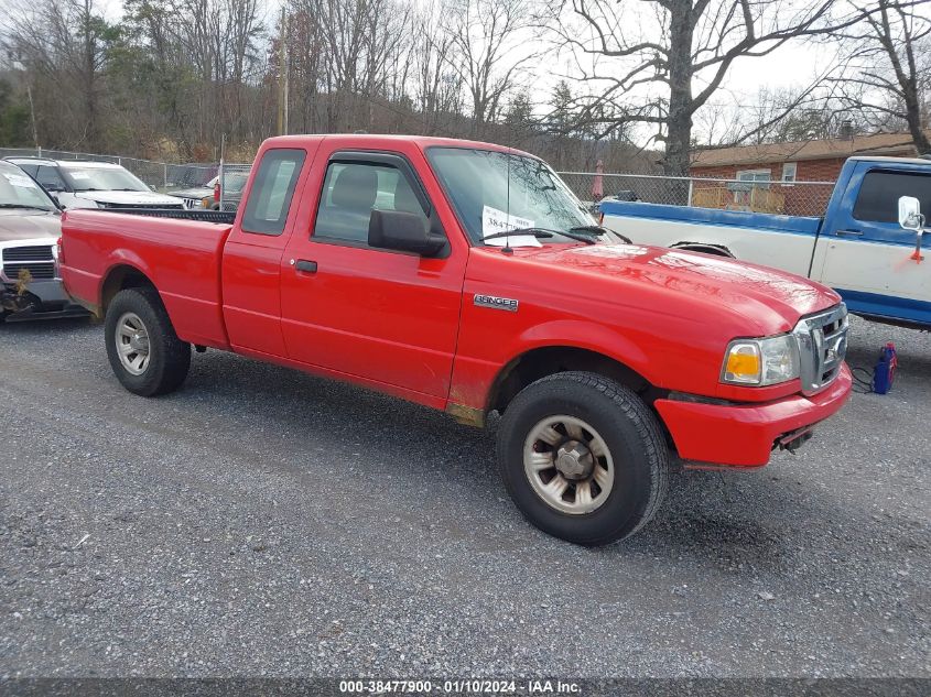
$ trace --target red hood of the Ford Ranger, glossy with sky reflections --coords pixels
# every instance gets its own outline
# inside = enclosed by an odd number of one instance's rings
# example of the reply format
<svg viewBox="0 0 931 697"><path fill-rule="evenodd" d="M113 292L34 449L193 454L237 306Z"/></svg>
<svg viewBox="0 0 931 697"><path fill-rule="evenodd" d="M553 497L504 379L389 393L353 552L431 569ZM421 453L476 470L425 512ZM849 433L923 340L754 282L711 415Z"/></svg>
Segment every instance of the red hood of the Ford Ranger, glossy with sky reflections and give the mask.
<svg viewBox="0 0 931 697"><path fill-rule="evenodd" d="M831 288L791 273L661 247L557 244L521 248L517 254L546 266L661 286L699 302L724 305L757 323L761 335L788 331L799 317L841 301Z"/></svg>

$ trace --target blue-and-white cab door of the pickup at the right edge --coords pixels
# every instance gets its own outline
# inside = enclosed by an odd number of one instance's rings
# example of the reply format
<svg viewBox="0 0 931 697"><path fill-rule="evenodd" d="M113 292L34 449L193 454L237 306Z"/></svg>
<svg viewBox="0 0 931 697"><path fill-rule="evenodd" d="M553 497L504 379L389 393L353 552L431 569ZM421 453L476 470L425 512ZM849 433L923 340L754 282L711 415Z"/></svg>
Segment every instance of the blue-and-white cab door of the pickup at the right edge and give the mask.
<svg viewBox="0 0 931 697"><path fill-rule="evenodd" d="M898 224L900 196L918 198L931 218L927 167L859 163L836 210L829 211L832 226L819 237L812 275L853 312L931 324L931 235L923 236L924 261L912 259L917 236Z"/></svg>

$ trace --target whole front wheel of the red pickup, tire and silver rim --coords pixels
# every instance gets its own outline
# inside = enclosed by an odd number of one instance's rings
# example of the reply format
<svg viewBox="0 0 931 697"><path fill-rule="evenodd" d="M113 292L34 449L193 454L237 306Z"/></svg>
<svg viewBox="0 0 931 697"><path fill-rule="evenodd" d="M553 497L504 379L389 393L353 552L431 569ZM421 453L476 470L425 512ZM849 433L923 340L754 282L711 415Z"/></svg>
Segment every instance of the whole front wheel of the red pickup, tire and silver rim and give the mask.
<svg viewBox="0 0 931 697"><path fill-rule="evenodd" d="M531 523L588 546L640 530L669 481L657 418L631 390L587 372L549 375L513 399L498 432L498 464Z"/></svg>

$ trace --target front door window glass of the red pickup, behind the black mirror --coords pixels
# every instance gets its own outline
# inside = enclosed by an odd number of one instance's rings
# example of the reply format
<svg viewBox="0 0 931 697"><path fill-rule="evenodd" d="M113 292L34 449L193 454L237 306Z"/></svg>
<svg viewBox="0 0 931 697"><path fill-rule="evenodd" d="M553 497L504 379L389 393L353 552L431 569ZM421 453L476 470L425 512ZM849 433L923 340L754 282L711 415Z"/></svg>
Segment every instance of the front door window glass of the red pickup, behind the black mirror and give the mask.
<svg viewBox="0 0 931 697"><path fill-rule="evenodd" d="M390 165L331 162L323 182L314 238L368 242L372 209L403 210L426 220L411 183Z"/></svg>

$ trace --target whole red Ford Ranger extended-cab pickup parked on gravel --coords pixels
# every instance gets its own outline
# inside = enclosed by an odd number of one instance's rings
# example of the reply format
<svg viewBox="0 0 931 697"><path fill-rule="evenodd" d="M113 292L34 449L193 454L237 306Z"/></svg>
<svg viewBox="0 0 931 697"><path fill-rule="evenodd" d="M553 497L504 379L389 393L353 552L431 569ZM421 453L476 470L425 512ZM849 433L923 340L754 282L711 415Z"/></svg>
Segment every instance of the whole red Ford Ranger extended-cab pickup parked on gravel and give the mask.
<svg viewBox="0 0 931 697"><path fill-rule="evenodd" d="M851 391L833 291L626 243L527 153L273 138L243 203L229 224L65 214L62 276L106 317L123 386L176 390L194 346L476 426L497 412L510 495L575 543L639 530L662 500L671 450L689 466L760 467Z"/></svg>

